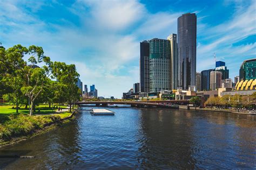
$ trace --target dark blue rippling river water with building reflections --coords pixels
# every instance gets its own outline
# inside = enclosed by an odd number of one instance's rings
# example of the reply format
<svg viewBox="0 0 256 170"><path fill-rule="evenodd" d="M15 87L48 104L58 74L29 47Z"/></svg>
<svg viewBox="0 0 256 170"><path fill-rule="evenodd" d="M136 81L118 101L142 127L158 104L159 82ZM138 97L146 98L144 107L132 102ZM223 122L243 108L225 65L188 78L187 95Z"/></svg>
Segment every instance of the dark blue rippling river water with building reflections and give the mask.
<svg viewBox="0 0 256 170"><path fill-rule="evenodd" d="M0 148L0 168L256 168L256 116L108 108ZM5 155L35 158L4 158Z"/></svg>

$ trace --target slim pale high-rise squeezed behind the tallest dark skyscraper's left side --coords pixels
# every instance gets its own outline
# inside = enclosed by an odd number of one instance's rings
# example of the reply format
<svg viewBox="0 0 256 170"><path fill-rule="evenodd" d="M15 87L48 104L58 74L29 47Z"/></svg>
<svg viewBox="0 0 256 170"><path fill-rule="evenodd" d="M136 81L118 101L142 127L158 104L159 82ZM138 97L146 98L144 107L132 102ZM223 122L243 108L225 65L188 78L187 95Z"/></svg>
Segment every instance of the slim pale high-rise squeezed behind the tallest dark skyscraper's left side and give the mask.
<svg viewBox="0 0 256 170"><path fill-rule="evenodd" d="M167 37L171 42L171 60L170 60L170 87L177 89L178 87L178 44L177 34L171 34Z"/></svg>

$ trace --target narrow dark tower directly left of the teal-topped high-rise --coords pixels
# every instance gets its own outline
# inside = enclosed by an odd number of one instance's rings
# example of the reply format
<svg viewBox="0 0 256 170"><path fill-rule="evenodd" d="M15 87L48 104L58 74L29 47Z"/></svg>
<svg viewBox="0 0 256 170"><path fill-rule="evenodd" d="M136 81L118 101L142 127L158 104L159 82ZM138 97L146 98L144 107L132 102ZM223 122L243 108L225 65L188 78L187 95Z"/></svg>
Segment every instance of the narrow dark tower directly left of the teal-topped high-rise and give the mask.
<svg viewBox="0 0 256 170"><path fill-rule="evenodd" d="M150 44L149 41L140 42L140 59L139 59L139 80L140 92L150 91Z"/></svg>

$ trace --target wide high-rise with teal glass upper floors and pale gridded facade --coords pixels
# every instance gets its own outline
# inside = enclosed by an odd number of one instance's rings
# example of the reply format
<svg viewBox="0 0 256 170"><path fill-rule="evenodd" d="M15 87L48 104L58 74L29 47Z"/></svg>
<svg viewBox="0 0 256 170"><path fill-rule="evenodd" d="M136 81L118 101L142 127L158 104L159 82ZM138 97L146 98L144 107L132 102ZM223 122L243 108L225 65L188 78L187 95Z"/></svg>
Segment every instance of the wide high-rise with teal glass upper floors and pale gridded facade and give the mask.
<svg viewBox="0 0 256 170"><path fill-rule="evenodd" d="M170 57L169 40L150 40L150 92L170 90Z"/></svg>

